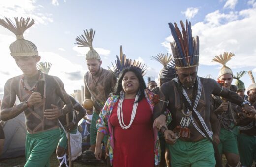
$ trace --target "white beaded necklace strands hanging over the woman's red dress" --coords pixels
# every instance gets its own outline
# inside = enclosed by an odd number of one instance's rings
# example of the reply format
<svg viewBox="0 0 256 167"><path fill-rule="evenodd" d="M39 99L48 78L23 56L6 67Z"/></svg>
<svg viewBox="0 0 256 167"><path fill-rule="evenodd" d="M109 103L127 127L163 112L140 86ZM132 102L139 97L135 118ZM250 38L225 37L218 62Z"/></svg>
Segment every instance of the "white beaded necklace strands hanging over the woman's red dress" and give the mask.
<svg viewBox="0 0 256 167"><path fill-rule="evenodd" d="M123 118L123 107L122 107L122 104L123 104L124 96L120 96L120 99L119 99L119 102L118 102L118 106L117 106L117 118L118 118L119 124L120 124L122 129L128 129L131 126L131 124L132 124L132 122L133 122L133 120L135 118L137 107L138 107L137 101L139 99L139 94L140 93L138 93L136 95L136 97L135 97L135 102L136 103L133 104L131 118L130 118L130 123L129 123L128 126L125 125L124 118Z"/></svg>

